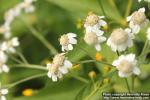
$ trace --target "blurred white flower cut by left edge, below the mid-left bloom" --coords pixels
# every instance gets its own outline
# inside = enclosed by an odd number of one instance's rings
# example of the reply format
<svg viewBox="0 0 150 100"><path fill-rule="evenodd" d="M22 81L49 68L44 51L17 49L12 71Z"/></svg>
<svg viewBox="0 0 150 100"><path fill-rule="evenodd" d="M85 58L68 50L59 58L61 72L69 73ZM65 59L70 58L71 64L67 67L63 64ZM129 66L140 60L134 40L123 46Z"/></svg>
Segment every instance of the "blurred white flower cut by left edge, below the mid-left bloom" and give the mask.
<svg viewBox="0 0 150 100"><path fill-rule="evenodd" d="M8 66L5 64L7 62L7 55L0 50L0 73L9 72Z"/></svg>

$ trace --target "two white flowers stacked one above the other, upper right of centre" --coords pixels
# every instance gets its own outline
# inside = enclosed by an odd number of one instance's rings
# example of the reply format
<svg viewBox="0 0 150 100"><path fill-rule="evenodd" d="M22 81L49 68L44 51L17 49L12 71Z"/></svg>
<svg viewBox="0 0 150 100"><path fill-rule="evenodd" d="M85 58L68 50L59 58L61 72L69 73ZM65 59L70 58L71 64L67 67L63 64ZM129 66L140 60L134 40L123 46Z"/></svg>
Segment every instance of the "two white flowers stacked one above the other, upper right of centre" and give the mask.
<svg viewBox="0 0 150 100"><path fill-rule="evenodd" d="M84 40L88 45L94 45L97 51L101 50L100 43L106 41L106 37L103 36L104 31L101 30L102 26L107 25L107 23L102 20L103 18L104 16L89 13L84 24L86 31Z"/></svg>

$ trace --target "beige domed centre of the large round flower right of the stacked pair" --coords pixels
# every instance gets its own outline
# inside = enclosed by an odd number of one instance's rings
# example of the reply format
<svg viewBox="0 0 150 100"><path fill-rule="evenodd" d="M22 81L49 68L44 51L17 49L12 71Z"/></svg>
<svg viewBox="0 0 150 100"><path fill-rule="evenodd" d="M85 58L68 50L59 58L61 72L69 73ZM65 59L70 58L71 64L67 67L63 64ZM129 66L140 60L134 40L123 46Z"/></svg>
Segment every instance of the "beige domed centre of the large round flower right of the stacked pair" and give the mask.
<svg viewBox="0 0 150 100"><path fill-rule="evenodd" d="M123 29L115 29L111 34L111 41L117 45L128 41L128 33Z"/></svg>

